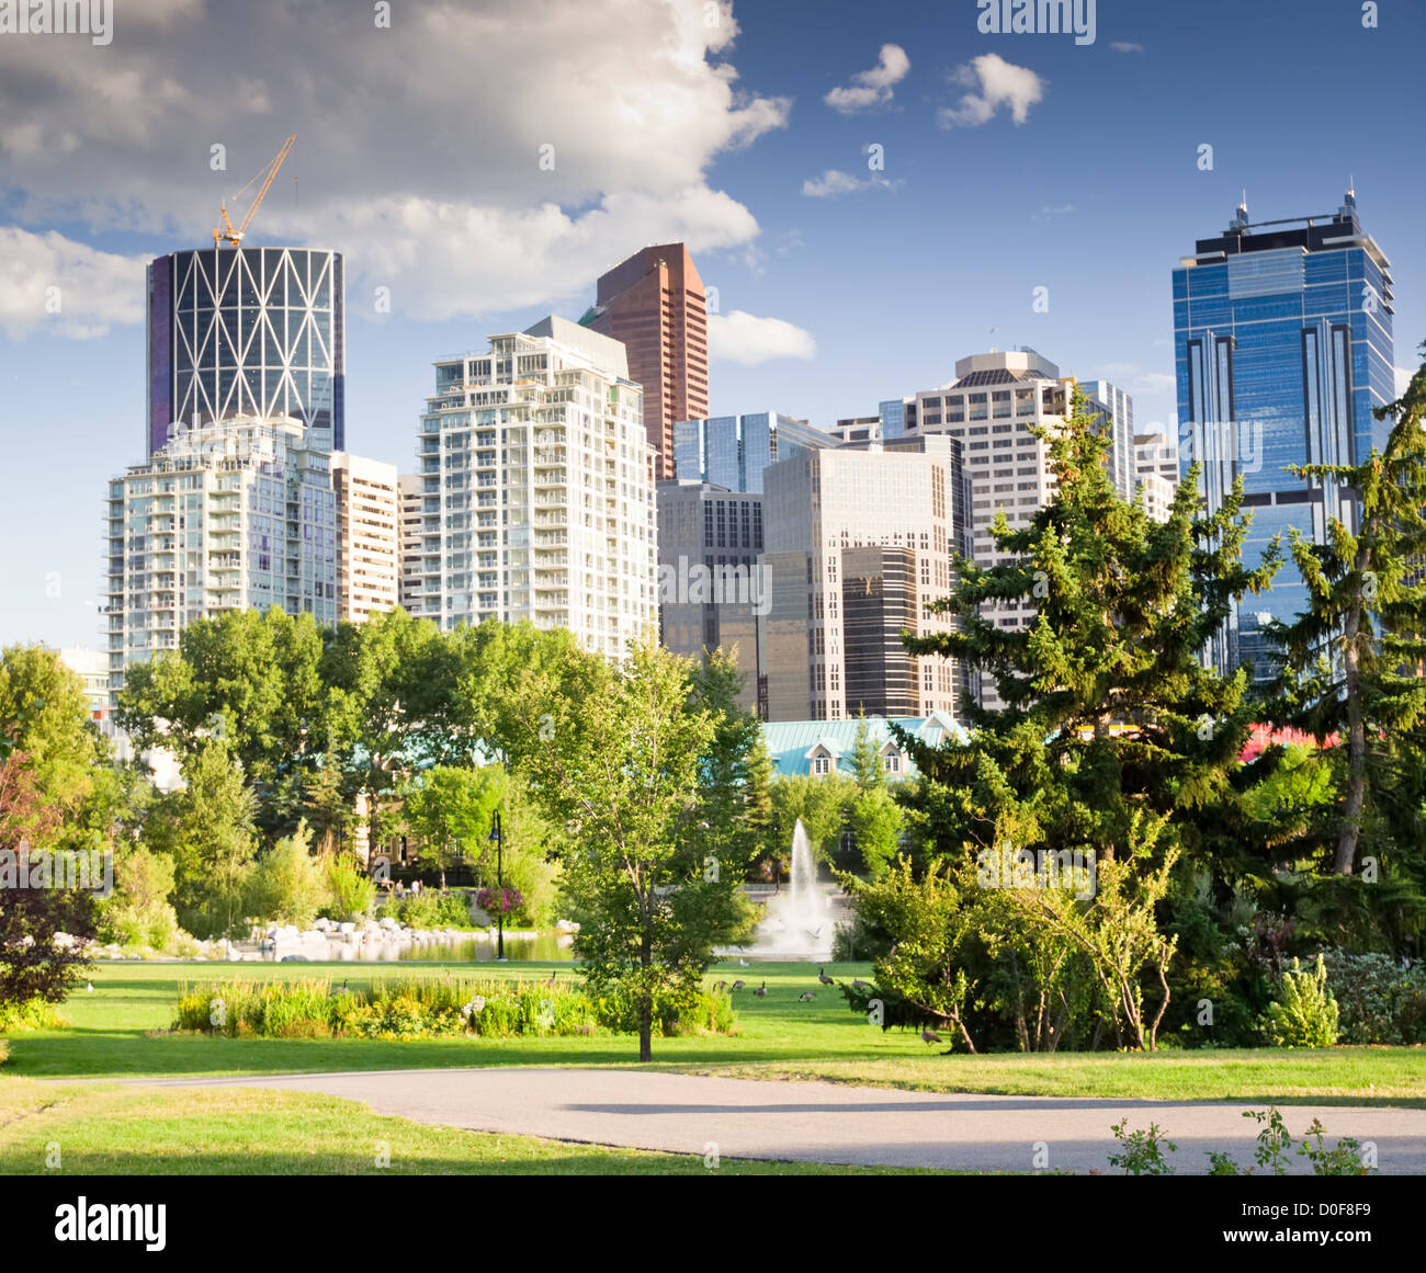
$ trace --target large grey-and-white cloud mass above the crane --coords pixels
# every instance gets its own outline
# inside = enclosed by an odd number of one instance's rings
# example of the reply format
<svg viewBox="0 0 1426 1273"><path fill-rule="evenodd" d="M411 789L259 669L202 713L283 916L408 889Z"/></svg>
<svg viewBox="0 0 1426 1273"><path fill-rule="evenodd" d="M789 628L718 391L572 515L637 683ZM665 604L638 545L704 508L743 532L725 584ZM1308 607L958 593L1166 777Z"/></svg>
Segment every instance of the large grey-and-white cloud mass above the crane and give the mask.
<svg viewBox="0 0 1426 1273"><path fill-rule="evenodd" d="M756 239L707 171L784 127L790 103L737 87L727 6L714 27L686 0L623 0L617 23L586 0L543 0L538 21L526 0L399 9L381 30L345 0L262 23L167 0L144 38L120 19L93 54L0 40L13 220L200 247L220 200L295 133L251 241L345 252L352 314L375 285L421 318L553 306L649 242Z"/></svg>

